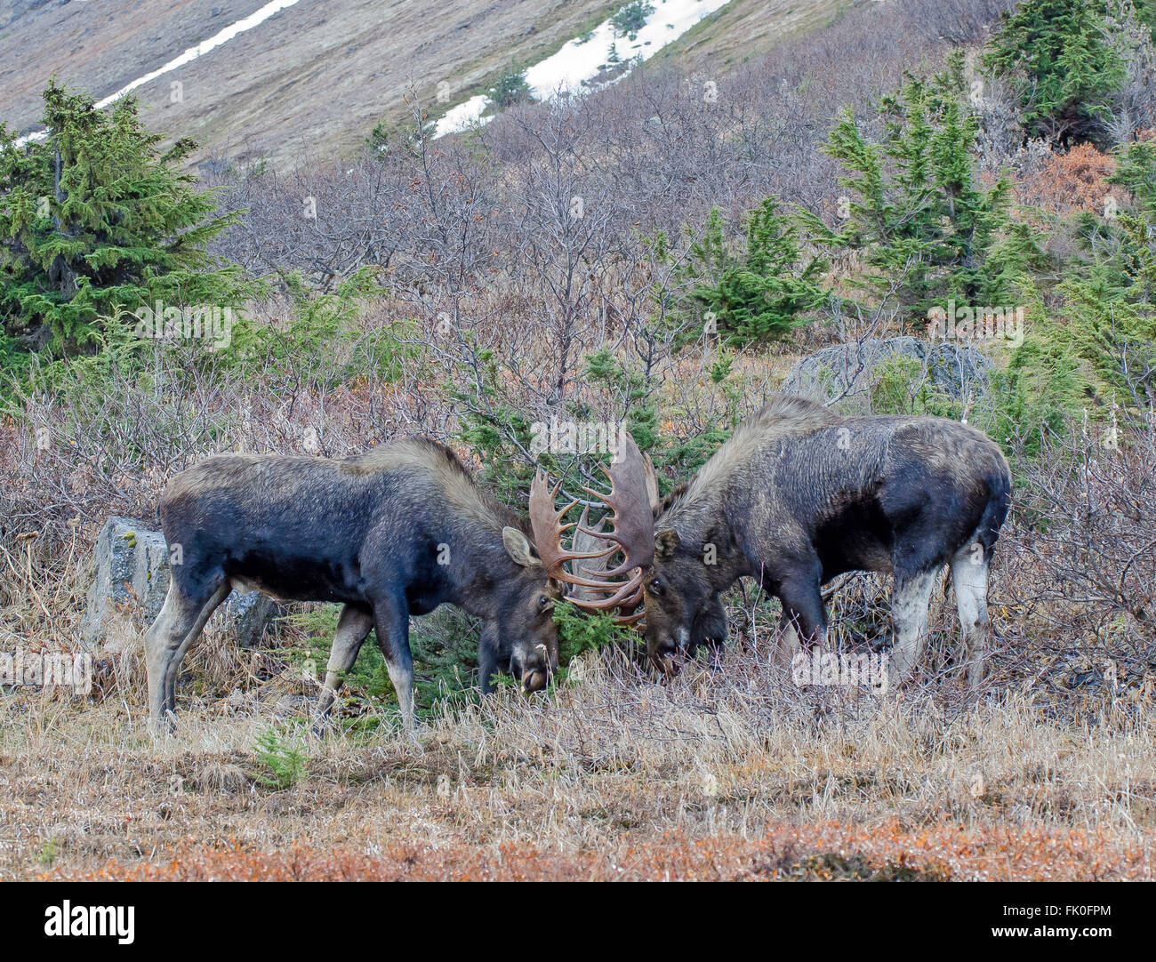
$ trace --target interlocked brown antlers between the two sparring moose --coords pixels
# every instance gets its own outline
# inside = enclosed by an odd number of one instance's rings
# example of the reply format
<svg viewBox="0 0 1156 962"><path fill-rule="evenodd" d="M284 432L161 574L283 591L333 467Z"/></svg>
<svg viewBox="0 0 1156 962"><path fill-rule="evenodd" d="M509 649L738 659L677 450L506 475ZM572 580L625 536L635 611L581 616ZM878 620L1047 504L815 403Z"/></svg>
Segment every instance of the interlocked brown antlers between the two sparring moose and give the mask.
<svg viewBox="0 0 1156 962"><path fill-rule="evenodd" d="M601 501L612 511L613 525L602 531L602 521L596 528L588 526L588 506L583 508L581 518L563 524L566 513L578 504L575 498L561 511L555 511L555 501L562 481L553 488L543 471L534 475L529 489L529 523L534 531L534 543L550 577L573 585L570 594L575 605L590 610L620 608L618 621L627 624L637 622L643 613L630 614L643 600L643 580L646 569L654 561L654 518L651 504L657 496L653 467L644 459L630 435L618 457L602 472L610 481L609 494L592 488L583 490ZM562 547L562 535L576 528L570 550ZM606 547L599 547L605 545ZM610 557L622 552L623 561L616 568L607 569ZM594 562L577 565L576 562ZM571 563L571 570L565 568ZM580 568L580 574L579 574ZM616 580L628 575L625 580Z"/></svg>

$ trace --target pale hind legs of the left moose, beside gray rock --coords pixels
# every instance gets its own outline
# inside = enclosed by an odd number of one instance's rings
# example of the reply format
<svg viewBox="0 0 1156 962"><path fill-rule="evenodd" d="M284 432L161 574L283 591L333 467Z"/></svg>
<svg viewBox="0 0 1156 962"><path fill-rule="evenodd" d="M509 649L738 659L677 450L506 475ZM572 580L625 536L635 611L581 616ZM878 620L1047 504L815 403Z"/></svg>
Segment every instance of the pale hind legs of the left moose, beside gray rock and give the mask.
<svg viewBox="0 0 1156 962"><path fill-rule="evenodd" d="M229 587L229 582L222 577L197 598L190 595L176 578L169 584L161 614L144 634L148 713L154 730L164 724L171 726L172 713L177 709L177 671L209 615L228 597Z"/></svg>

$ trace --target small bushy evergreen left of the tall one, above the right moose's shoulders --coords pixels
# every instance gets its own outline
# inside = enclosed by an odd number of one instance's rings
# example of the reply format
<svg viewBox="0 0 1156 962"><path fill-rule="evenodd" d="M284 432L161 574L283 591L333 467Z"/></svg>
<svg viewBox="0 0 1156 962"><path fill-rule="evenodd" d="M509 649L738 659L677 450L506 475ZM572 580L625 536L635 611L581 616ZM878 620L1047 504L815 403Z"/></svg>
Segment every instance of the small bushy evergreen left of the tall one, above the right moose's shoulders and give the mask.
<svg viewBox="0 0 1156 962"><path fill-rule="evenodd" d="M772 198L746 219L746 250L732 253L722 230L722 215L712 208L703 235L690 246L681 276L691 281L683 314L710 321L727 341L746 343L781 338L802 323L802 314L818 306L827 265L817 258L805 264L794 221L778 213Z"/></svg>

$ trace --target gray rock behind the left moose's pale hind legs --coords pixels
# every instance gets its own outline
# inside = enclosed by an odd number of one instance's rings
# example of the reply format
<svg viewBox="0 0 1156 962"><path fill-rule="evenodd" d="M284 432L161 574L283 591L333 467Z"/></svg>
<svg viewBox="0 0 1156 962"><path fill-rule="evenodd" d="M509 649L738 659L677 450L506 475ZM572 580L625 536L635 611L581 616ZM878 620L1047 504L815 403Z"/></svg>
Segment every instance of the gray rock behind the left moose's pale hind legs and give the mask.
<svg viewBox="0 0 1156 962"><path fill-rule="evenodd" d="M161 613L172 579L164 535L131 518L111 516L96 539L91 575L81 637L96 648L110 636L123 641L133 622L148 627ZM279 606L259 591L234 591L222 609L240 645L254 648Z"/></svg>

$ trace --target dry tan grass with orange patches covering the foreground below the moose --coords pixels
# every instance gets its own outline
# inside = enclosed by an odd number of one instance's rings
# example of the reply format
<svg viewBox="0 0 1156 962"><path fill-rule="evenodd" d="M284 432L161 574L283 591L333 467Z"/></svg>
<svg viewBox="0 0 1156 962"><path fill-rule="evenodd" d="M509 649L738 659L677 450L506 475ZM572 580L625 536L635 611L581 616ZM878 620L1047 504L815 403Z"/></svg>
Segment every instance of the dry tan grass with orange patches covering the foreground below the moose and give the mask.
<svg viewBox="0 0 1156 962"><path fill-rule="evenodd" d="M155 742L135 683L8 697L0 878L1153 876L1150 712L1107 694L1057 722L950 680L799 691L757 644L667 686L583 667L417 743L287 734L307 763L284 790L253 752L261 687L184 700Z"/></svg>

